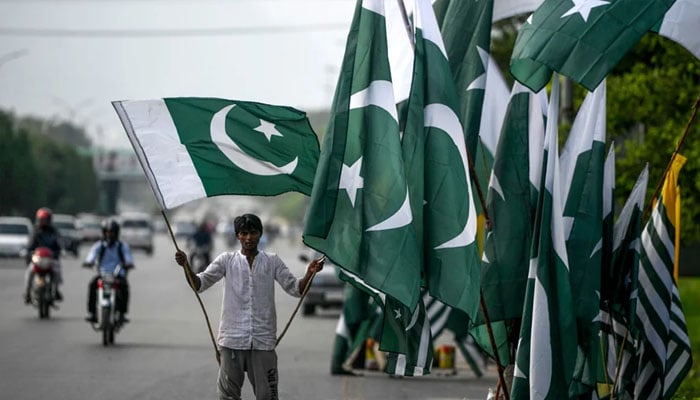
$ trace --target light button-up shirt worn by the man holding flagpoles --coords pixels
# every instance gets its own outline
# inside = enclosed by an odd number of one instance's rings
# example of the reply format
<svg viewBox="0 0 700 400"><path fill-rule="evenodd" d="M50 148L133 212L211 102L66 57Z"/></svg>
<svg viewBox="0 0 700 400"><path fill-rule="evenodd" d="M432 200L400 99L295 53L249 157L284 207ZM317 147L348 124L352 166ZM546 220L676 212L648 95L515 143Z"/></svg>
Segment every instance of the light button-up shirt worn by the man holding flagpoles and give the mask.
<svg viewBox="0 0 700 400"><path fill-rule="evenodd" d="M301 296L299 279L276 254L259 250L251 270L240 250L225 252L197 276L201 281L200 293L226 278L219 346L235 350L274 350L277 341L275 281L291 296Z"/></svg>

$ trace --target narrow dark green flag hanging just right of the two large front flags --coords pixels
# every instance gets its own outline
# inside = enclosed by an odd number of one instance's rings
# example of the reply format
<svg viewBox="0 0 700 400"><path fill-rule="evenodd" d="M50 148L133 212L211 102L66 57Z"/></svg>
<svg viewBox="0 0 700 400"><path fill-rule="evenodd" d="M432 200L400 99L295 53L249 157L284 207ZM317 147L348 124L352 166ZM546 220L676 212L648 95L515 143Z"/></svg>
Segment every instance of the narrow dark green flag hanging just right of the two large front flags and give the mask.
<svg viewBox="0 0 700 400"><path fill-rule="evenodd" d="M546 101L546 93L532 93L519 82L513 85L486 198L490 228L481 286L503 366L514 362L520 331L541 180ZM481 313L472 335L493 356Z"/></svg>

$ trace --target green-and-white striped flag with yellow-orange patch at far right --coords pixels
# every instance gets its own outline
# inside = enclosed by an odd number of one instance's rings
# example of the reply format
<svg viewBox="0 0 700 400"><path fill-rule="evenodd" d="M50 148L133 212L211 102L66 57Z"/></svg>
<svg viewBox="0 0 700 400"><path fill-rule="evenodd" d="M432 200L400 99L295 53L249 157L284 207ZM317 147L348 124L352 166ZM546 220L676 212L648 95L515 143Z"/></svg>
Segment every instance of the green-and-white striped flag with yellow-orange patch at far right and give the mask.
<svg viewBox="0 0 700 400"><path fill-rule="evenodd" d="M685 157L677 154L665 177L661 194L642 232L637 298L639 365L635 399L670 399L690 371L692 353L673 279L677 235L674 223L680 213L678 174Z"/></svg>

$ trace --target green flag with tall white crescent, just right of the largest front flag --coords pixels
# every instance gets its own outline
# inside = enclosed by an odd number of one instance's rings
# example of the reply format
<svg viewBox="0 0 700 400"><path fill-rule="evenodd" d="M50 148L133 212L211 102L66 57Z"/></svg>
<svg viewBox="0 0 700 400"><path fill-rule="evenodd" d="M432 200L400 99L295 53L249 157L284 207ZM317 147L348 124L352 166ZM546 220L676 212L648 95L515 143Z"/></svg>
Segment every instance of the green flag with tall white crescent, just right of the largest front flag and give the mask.
<svg viewBox="0 0 700 400"><path fill-rule="evenodd" d="M416 57L402 146L423 239L423 271L432 296L474 318L480 274L476 211L459 98L428 0L416 1L414 18Z"/></svg>

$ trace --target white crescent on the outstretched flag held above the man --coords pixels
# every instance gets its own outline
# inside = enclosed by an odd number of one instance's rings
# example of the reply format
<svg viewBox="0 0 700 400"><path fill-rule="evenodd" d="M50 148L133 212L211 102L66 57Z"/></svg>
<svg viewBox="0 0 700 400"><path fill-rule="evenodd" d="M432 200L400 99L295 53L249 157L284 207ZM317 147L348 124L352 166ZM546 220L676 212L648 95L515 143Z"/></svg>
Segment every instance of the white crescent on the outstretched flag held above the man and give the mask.
<svg viewBox="0 0 700 400"><path fill-rule="evenodd" d="M298 158L295 157L289 164L278 167L268 161L258 160L251 157L236 142L226 133L226 115L235 107L235 104L228 105L217 111L211 119L210 133L211 141L216 147L224 153L226 158L238 168L254 174L262 176L274 176L282 174L291 174L297 167Z"/></svg>

